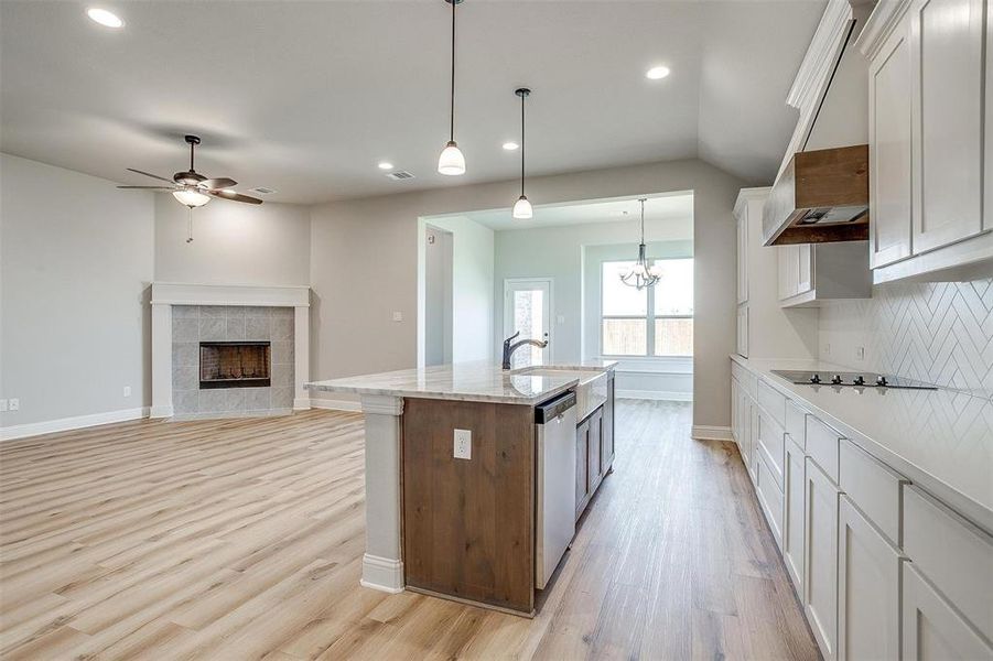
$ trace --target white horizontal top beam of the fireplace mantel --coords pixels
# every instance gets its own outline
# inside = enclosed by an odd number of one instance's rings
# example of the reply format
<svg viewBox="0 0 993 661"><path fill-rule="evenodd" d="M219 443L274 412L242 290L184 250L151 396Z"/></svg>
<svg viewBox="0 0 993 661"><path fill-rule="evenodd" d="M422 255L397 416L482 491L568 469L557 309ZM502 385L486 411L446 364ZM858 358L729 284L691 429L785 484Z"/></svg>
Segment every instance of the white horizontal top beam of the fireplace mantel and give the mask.
<svg viewBox="0 0 993 661"><path fill-rule="evenodd" d="M310 307L309 286L152 283L152 305L258 305Z"/></svg>

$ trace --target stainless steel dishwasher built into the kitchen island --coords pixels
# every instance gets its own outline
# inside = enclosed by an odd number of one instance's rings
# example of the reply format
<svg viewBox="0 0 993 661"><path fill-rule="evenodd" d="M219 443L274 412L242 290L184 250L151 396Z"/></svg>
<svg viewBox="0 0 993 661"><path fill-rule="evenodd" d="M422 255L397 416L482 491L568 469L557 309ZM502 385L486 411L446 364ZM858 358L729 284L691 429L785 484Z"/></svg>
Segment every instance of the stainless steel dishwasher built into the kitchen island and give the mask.
<svg viewBox="0 0 993 661"><path fill-rule="evenodd" d="M535 407L538 589L548 584L575 534L575 423L574 392Z"/></svg>

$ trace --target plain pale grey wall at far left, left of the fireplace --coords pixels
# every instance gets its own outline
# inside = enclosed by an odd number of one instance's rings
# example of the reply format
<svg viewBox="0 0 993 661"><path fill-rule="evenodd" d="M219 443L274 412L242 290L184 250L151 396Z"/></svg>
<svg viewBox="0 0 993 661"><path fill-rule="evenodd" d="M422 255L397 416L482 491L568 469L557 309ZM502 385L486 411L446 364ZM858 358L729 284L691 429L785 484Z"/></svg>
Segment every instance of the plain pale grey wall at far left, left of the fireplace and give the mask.
<svg viewBox="0 0 993 661"><path fill-rule="evenodd" d="M147 404L153 240L151 193L0 154L0 426Z"/></svg>

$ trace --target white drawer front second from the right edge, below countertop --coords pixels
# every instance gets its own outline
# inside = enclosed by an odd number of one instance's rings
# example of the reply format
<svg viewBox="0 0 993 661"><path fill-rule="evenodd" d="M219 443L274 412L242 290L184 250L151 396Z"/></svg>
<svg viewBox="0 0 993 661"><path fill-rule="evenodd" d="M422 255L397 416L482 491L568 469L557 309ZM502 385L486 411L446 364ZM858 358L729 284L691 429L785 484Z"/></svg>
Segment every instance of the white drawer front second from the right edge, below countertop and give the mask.
<svg viewBox="0 0 993 661"><path fill-rule="evenodd" d="M839 444L839 486L868 520L899 546L900 488L908 480L867 452L842 438Z"/></svg>

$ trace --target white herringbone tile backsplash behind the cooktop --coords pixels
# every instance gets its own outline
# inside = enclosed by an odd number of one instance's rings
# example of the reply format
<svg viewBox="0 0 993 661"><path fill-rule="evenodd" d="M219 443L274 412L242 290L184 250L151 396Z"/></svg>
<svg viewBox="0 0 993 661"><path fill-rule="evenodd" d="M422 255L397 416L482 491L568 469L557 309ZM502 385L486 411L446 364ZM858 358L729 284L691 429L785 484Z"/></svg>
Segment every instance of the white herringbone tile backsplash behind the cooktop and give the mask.
<svg viewBox="0 0 993 661"><path fill-rule="evenodd" d="M822 307L819 326L821 360L993 398L993 279L878 285Z"/></svg>

